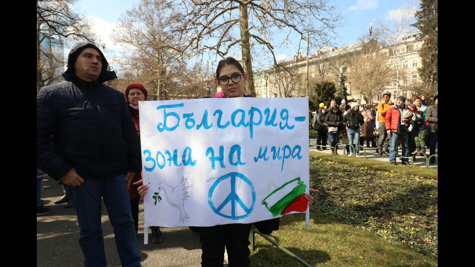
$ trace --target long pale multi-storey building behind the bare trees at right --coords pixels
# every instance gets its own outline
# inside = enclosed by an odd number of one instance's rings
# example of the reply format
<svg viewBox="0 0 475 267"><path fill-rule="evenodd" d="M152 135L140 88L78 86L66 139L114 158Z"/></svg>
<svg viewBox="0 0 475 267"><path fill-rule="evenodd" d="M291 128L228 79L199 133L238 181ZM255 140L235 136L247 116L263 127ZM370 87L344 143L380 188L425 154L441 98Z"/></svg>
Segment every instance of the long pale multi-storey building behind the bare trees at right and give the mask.
<svg viewBox="0 0 475 267"><path fill-rule="evenodd" d="M333 47L324 51L317 50L315 54L302 55L302 50L293 53L293 59L280 63L281 66L256 72L254 74L254 88L257 97L300 97L313 93L312 85L321 81L333 81L339 84L340 76L347 75L350 66L350 57L357 52L382 53L387 59L389 67L394 69L391 82L374 99L381 99L384 92L389 91L396 98L404 95L411 99L414 85L419 82L417 67L421 61L418 50L423 41L416 38L416 34L405 36L402 42L395 46L378 47L375 40L360 42L345 47ZM368 79L371 79L368 77ZM351 87L351 80L346 80L348 98L364 98L359 90ZM367 97L366 97L367 98Z"/></svg>

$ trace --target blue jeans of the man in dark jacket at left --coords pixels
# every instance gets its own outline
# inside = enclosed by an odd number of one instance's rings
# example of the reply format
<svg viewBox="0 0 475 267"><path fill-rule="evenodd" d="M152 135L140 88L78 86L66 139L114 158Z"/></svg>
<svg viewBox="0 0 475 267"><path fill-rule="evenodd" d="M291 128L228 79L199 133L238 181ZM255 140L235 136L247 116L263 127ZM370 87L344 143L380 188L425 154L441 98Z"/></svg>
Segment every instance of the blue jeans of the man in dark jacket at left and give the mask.
<svg viewBox="0 0 475 267"><path fill-rule="evenodd" d="M125 174L105 179L81 177L84 183L77 187L68 186L67 191L78 215L79 245L84 254L84 266L106 266L101 227L102 199L114 228L115 245L122 266L141 266Z"/></svg>

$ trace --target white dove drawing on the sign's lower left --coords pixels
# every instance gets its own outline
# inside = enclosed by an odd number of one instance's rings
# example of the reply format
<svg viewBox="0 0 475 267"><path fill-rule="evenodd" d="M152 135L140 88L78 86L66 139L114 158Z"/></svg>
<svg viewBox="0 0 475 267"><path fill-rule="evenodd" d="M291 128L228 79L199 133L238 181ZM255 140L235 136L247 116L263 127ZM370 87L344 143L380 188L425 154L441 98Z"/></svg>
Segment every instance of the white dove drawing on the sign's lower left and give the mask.
<svg viewBox="0 0 475 267"><path fill-rule="evenodd" d="M185 177L183 177L180 181L180 183L175 187L172 188L171 186L161 182L158 184L158 193L160 193L160 190L165 192L165 199L167 200L167 203L170 204L171 206L174 206L180 211L180 221L185 222L186 219L190 219L185 212L185 200L188 198L188 182Z"/></svg>

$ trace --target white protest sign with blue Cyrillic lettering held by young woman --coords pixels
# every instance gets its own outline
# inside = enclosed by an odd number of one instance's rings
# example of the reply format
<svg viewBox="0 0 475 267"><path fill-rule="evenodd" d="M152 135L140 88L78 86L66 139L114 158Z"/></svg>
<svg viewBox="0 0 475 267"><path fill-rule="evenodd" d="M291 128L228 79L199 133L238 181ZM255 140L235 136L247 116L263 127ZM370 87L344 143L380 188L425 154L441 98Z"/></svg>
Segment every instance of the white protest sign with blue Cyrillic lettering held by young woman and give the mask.
<svg viewBox="0 0 475 267"><path fill-rule="evenodd" d="M145 229L307 210L308 98L140 101L139 110Z"/></svg>

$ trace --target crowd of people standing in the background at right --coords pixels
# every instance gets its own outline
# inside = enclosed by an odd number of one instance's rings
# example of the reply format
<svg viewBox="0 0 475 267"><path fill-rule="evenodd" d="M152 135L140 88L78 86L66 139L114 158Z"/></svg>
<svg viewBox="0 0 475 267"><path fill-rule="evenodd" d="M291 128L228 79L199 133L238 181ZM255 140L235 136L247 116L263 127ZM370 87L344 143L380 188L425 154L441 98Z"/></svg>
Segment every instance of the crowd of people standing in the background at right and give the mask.
<svg viewBox="0 0 475 267"><path fill-rule="evenodd" d="M320 103L315 115L314 129L317 130L317 150L330 147L332 154L338 154L338 143L346 145L347 156L360 156L360 146L376 147L379 156L389 156L391 164L409 165L409 157L438 154L438 95L433 105L428 106L424 95L415 96L409 104L400 95L394 103L391 93L382 95L380 102L363 106L361 99L341 106L336 101L330 107ZM329 145L327 145L327 140ZM401 147L401 153L398 148ZM435 163L430 157L429 164Z"/></svg>

